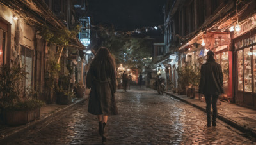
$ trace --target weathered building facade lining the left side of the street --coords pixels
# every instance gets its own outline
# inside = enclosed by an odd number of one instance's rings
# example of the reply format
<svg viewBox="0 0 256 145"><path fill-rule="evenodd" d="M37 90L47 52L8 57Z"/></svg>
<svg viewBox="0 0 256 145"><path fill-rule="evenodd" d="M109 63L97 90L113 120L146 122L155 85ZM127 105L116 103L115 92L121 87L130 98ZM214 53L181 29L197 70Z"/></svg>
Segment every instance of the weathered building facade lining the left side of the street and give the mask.
<svg viewBox="0 0 256 145"><path fill-rule="evenodd" d="M60 61L60 73L65 74L66 64L72 63L68 55L83 50L84 46L77 38L70 39L66 46L50 43L43 31L74 26L72 4L70 1L13 0L1 1L0 8L0 65L25 67L28 79L24 78L22 85L36 90L38 99L55 103L52 88L47 88L51 59Z"/></svg>

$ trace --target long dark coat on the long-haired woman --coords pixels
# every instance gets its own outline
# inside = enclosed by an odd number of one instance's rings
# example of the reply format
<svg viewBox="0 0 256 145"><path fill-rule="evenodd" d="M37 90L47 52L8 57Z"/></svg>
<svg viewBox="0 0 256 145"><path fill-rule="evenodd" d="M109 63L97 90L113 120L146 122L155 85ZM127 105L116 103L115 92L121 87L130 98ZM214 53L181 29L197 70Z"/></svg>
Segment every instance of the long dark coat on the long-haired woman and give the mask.
<svg viewBox="0 0 256 145"><path fill-rule="evenodd" d="M115 68L107 61L90 64L86 85L91 88L89 94L89 113L116 115L116 75Z"/></svg>

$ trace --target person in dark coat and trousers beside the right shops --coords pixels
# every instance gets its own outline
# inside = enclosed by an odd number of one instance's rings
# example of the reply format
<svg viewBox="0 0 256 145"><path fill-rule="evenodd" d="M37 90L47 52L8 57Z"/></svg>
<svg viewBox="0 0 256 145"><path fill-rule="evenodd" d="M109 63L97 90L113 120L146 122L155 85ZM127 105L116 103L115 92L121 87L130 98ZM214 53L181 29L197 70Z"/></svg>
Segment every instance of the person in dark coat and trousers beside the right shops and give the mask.
<svg viewBox="0 0 256 145"><path fill-rule="evenodd" d="M220 64L215 62L214 52L207 52L207 62L201 66L199 93L204 94L206 102L207 126L211 127L211 105L213 110L212 126L216 126L217 99L223 90L223 73Z"/></svg>

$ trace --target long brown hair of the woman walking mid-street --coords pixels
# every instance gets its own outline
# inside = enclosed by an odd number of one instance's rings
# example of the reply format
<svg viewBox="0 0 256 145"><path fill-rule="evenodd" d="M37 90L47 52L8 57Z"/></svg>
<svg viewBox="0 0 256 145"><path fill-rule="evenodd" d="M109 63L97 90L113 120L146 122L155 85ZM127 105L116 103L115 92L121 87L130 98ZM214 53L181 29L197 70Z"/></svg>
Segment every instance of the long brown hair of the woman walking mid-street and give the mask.
<svg viewBox="0 0 256 145"><path fill-rule="evenodd" d="M102 62L109 62L109 64L115 69L115 60L113 59L111 53L109 52L108 48L101 47L97 51L95 57L92 60L92 64L98 64Z"/></svg>

